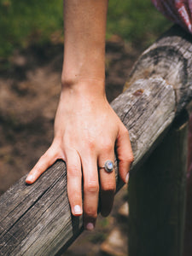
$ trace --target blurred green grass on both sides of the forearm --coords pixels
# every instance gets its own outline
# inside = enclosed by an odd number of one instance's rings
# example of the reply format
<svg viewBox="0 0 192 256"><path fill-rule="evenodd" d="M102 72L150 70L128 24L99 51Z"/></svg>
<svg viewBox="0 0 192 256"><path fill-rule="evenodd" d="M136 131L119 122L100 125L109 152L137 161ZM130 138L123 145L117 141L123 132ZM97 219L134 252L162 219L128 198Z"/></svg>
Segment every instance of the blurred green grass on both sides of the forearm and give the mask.
<svg viewBox="0 0 192 256"><path fill-rule="evenodd" d="M62 0L0 0L0 61L15 48L61 42L62 19ZM107 39L150 44L169 24L150 0L109 0Z"/></svg>

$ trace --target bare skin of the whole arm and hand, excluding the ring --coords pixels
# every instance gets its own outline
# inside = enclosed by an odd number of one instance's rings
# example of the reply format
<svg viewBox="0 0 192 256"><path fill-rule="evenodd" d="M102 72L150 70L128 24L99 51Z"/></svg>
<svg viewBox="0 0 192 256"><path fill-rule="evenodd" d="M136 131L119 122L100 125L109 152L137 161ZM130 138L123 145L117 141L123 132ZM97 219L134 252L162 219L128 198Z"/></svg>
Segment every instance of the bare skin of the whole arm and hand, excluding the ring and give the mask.
<svg viewBox="0 0 192 256"><path fill-rule="evenodd" d="M99 193L101 213L107 216L116 189L114 171L98 166L114 160L115 148L119 176L127 183L133 161L128 131L105 94L107 10L107 0L64 0L65 50L55 137L26 177L26 183L34 183L55 160L64 160L71 211L75 216L84 213L87 230L96 224Z"/></svg>

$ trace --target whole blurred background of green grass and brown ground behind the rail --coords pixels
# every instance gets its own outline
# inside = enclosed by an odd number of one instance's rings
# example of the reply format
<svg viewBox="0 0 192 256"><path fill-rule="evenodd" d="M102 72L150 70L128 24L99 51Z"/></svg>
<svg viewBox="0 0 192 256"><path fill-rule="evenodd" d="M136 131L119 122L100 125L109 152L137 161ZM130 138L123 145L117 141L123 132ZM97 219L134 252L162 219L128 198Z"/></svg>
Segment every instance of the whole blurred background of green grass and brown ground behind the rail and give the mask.
<svg viewBox="0 0 192 256"><path fill-rule="evenodd" d="M108 4L106 90L112 101L138 55L172 23L150 0ZM61 85L62 12L62 0L0 0L0 195L30 171L52 141ZM119 211L126 188L117 196L110 217L99 218L96 231L84 232L63 255L126 255L127 207ZM114 241L119 241L116 247Z"/></svg>

